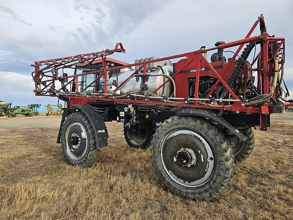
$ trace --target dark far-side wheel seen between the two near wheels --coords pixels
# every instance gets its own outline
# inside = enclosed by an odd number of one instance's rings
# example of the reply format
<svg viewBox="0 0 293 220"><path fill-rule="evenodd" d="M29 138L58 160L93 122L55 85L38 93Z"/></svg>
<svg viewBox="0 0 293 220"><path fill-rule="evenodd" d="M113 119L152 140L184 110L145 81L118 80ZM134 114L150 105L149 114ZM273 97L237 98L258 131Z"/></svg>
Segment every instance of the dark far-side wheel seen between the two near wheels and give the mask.
<svg viewBox="0 0 293 220"><path fill-rule="evenodd" d="M123 128L125 141L132 148L147 149L151 146L153 134L155 132L152 123L137 123L129 128Z"/></svg>

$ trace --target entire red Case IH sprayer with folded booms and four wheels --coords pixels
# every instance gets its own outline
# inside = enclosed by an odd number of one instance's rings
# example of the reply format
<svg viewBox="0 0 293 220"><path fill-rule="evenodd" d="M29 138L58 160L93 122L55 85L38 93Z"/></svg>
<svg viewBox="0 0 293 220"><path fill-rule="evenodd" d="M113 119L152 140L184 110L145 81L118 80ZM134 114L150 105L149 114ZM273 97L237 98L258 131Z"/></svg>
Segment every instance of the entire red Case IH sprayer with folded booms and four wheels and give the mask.
<svg viewBox="0 0 293 220"><path fill-rule="evenodd" d="M260 35L251 36L258 24ZM211 200L226 189L234 163L253 150L251 127L266 131L270 114L286 107L284 43L267 33L263 16L244 39L134 64L109 58L125 52L117 43L114 49L35 62L34 92L67 104L57 143L69 164L95 163L107 146L105 122L116 120L124 123L130 147L151 146L153 167L166 188ZM229 50L235 46L236 52Z"/></svg>

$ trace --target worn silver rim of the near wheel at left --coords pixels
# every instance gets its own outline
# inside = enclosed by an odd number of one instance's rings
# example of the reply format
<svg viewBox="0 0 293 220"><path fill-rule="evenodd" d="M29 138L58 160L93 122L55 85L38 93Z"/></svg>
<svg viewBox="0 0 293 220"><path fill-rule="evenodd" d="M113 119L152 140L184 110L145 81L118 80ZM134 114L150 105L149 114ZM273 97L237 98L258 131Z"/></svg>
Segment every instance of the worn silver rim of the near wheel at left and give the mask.
<svg viewBox="0 0 293 220"><path fill-rule="evenodd" d="M71 123L66 130L66 151L71 159L79 160L86 154L87 134L79 122Z"/></svg>

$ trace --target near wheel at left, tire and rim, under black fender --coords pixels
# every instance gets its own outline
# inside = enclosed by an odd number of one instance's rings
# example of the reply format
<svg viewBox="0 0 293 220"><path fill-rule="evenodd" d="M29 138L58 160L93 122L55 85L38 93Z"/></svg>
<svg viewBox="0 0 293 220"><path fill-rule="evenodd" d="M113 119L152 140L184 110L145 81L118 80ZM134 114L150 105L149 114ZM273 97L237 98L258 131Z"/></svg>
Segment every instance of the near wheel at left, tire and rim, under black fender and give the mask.
<svg viewBox="0 0 293 220"><path fill-rule="evenodd" d="M97 158L95 132L82 113L68 116L62 127L61 144L66 161L73 166L89 167Z"/></svg>

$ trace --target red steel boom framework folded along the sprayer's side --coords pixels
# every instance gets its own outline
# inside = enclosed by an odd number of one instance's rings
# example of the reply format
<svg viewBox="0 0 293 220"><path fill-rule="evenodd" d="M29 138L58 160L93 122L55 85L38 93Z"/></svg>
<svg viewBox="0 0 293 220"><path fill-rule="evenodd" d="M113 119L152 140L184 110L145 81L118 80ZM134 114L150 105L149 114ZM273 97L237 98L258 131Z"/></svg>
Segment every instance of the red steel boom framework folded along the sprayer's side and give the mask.
<svg viewBox="0 0 293 220"><path fill-rule="evenodd" d="M125 102L125 103L148 103L148 104L156 104L156 105L173 105L173 106L183 106L183 107L195 107L195 108L206 108L206 109L221 109L221 110L227 110L227 111L234 111L234 112L245 112L247 114L252 114L252 113L259 113L259 114L269 114L269 108L268 105L269 103L265 103L262 106L259 107L253 107L253 106L244 106L242 104L241 100L239 100L238 96L232 91L232 89L226 84L225 80L223 77L226 74L231 74L231 72L228 72L229 67L232 65L232 63L235 61L236 57L238 56L239 52L243 48L244 44L250 43L250 42L256 42L260 41L262 44L262 47L255 57L252 65L257 61L258 58L260 58L260 63L259 63L259 68L258 68L258 82L257 82L257 92L262 93L262 94L267 94L270 93L270 80L272 78L272 74L270 72L271 67L271 61L275 60L276 57L278 56L278 53L280 49L282 48L283 50L283 59L285 58L285 38L279 38L279 37L270 37L268 33L266 32L266 28L262 30L261 35L259 36L252 36L252 32L255 30L257 24L260 23L261 28L265 27L265 20L263 19L262 16L258 17L258 19L254 22L252 25L252 28L246 35L244 39L237 40L237 41L232 41L228 43L224 43L219 45L218 47L212 47L208 49L199 49L187 53L182 53L182 54L177 54L174 56L169 56L169 57L164 57L164 58L159 58L155 60L150 60L150 61L144 61L144 62L139 62L139 63L134 63L134 64L126 64L122 65L119 67L111 67L111 68L106 68L106 61L107 58L106 56L111 55L114 52L125 52L125 49L123 48L123 45L121 43L116 43L116 46L114 49L111 50L102 50L99 52L94 52L94 53L85 53L85 54L79 54L74 57L65 57L65 58L58 58L58 59L51 59L47 61L37 61L35 62L35 72L33 72L33 77L35 79L35 93L36 95L40 96L56 96L58 97L58 92L61 92L62 89L66 88L68 85L71 84L75 80L75 93L71 94L65 94L63 95L63 98L69 98L70 99L70 106L73 104L85 104L87 102L96 102L96 101L117 101L117 102ZM279 41L280 44L275 52L275 54L271 54L269 57L269 46L272 42ZM215 49L224 49L224 48L229 48L233 46L239 46L236 53L233 55L233 57L230 59L230 61L226 64L225 68L219 74L211 65L211 63L203 56L203 53L206 53L207 51L215 50ZM88 62L93 62L96 59L101 59L102 60L102 69L96 70L96 71L91 71L91 72L86 72L86 73L81 73L81 74L76 74L76 75L70 75L70 76L59 76L58 70L64 69L67 67L72 67L74 65L85 65ZM107 91L107 73L110 70L116 70L116 69L121 69L125 67L133 67L133 66L139 66L139 68L134 71L129 77L132 77L133 75L137 74L141 69L143 69L143 74L147 74L147 64L153 63L153 62L158 62L158 61L164 61L164 60L171 60L171 59L176 59L176 58L188 58L187 65L191 64L192 62L195 63L197 66L197 69L199 71L196 72L196 82L195 82L195 99L198 98L198 88L199 88L199 80L197 80L200 74L200 63L203 62L205 65L207 65L210 70L213 72L214 75L216 75L217 82L216 84L212 87L212 90L210 93L207 95L207 99L210 97L210 95L217 89L217 85L221 82L221 84L224 86L224 88L230 93L231 97L233 97L234 102L232 105L218 105L218 106L207 106L207 105L202 105L198 102L198 100L194 100L193 103L186 102L186 97L177 97L177 98L182 98L179 99L177 102L166 102L166 101L151 101L148 100L147 97L141 99L141 98L135 98L134 100L131 99L119 99L115 98L115 96L111 97L110 94L95 94L95 97L86 97L83 94L80 94L84 91L86 91L87 88L89 88L91 85L95 83L100 77L105 76L105 85L104 85L104 91ZM48 71L40 70L40 66L46 65L48 67ZM186 66L187 66L186 65ZM172 75L172 78L174 78L181 70L183 70L186 66L183 66L180 68L178 71L174 72ZM53 70L51 75L48 75L47 73L49 70ZM253 69L257 70L257 69ZM87 74L93 74L93 73L102 73L99 77L97 77L90 85L87 85L80 93L78 93L78 76L81 75L87 75ZM47 77L46 80L42 80L43 77ZM49 79L48 79L49 78ZM57 91L55 90L55 81L56 80L64 80L64 79L69 79L67 84L65 84L62 88L58 89ZM127 80L127 79L126 79ZM125 80L125 81L126 81ZM124 81L124 82L125 82ZM165 83L163 83L161 86L159 86L153 93L158 91L160 88L162 88L165 84L167 84L170 80L166 80ZM115 91L118 91L119 88L124 84L122 82L116 89ZM145 84L145 78L143 79L143 84ZM43 87L43 88L42 88ZM43 91L44 89L50 89L50 94L44 94ZM115 92L113 91L113 93ZM269 101L269 100L268 100Z"/></svg>

